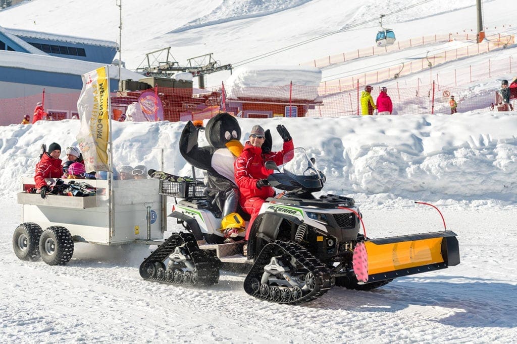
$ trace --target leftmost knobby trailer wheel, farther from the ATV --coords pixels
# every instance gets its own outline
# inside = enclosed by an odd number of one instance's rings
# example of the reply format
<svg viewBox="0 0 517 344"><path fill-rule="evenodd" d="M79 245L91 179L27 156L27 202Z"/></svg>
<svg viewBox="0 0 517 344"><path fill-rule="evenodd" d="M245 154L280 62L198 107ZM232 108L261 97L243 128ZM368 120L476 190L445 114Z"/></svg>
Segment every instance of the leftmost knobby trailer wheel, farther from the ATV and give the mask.
<svg viewBox="0 0 517 344"><path fill-rule="evenodd" d="M12 234L12 249L21 260L35 261L39 258L41 227L33 222L24 222Z"/></svg>

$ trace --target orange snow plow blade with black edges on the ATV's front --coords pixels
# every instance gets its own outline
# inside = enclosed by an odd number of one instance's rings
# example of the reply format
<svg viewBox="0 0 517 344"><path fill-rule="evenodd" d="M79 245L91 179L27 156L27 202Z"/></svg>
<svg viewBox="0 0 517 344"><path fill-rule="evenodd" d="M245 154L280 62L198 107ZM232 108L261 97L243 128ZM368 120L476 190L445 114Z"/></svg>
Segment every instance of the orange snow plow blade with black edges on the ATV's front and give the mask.
<svg viewBox="0 0 517 344"><path fill-rule="evenodd" d="M353 263L357 280L368 283L458 265L460 250L451 231L368 239L356 245Z"/></svg>

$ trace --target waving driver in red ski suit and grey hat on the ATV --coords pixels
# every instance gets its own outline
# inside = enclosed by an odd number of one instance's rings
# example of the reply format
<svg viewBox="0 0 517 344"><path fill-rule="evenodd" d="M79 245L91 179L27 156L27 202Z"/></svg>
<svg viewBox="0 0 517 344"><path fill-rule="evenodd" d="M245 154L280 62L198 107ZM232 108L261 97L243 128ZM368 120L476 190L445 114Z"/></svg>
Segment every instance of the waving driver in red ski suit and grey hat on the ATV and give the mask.
<svg viewBox="0 0 517 344"><path fill-rule="evenodd" d="M267 181L267 176L273 171L266 169L265 161L272 160L280 166L283 163L284 154L294 149L293 139L285 126L279 124L277 131L284 140L283 149L280 152L262 153L264 129L260 125L254 125L251 128L249 141L235 160L235 183L239 187L239 203L242 209L251 215L246 229L246 240L262 204L268 197L275 195L275 190Z"/></svg>

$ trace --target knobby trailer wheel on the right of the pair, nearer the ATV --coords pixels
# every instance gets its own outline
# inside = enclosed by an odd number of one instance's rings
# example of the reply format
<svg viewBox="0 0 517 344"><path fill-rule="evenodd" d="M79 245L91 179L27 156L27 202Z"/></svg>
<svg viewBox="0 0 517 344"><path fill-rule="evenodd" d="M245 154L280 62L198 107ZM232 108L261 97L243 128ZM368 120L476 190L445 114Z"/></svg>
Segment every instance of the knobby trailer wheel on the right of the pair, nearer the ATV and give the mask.
<svg viewBox="0 0 517 344"><path fill-rule="evenodd" d="M66 265L73 255L70 232L62 226L51 226L39 238L41 259L48 265Z"/></svg>

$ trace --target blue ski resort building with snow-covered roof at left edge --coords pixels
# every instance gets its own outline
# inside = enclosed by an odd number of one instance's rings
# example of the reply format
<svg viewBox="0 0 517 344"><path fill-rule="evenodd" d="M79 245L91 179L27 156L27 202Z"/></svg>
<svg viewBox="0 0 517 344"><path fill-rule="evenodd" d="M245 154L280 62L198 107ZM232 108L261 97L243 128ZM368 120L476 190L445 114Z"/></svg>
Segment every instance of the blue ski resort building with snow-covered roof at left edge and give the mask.
<svg viewBox="0 0 517 344"><path fill-rule="evenodd" d="M81 76L113 64L117 48L111 41L0 26L0 125L20 123L24 114L32 116L42 100L45 111L71 118L83 87ZM110 71L110 90L116 92L118 67ZM123 80L142 77L124 68L120 74Z"/></svg>

